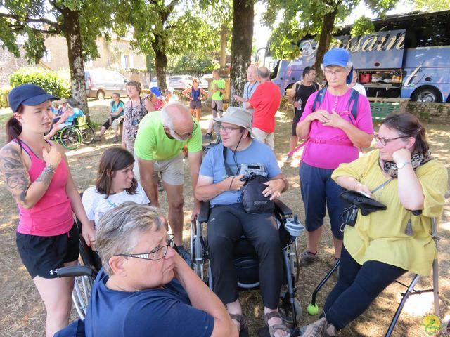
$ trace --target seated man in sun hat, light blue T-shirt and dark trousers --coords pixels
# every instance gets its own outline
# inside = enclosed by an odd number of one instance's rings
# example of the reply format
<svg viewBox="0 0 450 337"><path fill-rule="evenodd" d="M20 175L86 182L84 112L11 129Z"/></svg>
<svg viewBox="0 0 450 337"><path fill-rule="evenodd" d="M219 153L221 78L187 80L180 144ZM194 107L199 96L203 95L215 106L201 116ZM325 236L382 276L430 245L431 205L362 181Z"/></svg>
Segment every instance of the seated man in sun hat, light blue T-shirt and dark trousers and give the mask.
<svg viewBox="0 0 450 337"><path fill-rule="evenodd" d="M233 246L245 235L259 258L264 321L269 333L289 336L277 308L283 282L283 255L276 219L273 212L248 213L241 201L245 185L242 173L248 173L249 168L254 167L256 174L269 178L262 194L271 200L288 190L288 181L271 148L252 139L252 114L248 110L229 107L224 117L214 121L219 123L222 143L207 152L195 188L195 197L210 201L212 207L207 240L214 293L226 304L238 329L245 328L233 265Z"/></svg>

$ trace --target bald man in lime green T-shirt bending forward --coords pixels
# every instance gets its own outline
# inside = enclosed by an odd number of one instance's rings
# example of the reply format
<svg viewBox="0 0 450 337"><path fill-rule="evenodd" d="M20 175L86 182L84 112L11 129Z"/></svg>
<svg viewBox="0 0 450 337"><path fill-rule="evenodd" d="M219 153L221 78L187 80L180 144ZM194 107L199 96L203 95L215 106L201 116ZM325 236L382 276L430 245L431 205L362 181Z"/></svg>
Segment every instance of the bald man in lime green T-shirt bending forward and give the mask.
<svg viewBox="0 0 450 337"><path fill-rule="evenodd" d="M134 151L138 157L141 185L153 206L158 201L158 172L161 173L169 204L169 224L179 254L191 264L191 257L183 247L183 185L184 145L188 147L192 190L197 185L198 171L202 163L202 133L198 121L193 119L187 107L170 103L160 111L147 114L139 124ZM200 201L194 197L191 220L200 211Z"/></svg>

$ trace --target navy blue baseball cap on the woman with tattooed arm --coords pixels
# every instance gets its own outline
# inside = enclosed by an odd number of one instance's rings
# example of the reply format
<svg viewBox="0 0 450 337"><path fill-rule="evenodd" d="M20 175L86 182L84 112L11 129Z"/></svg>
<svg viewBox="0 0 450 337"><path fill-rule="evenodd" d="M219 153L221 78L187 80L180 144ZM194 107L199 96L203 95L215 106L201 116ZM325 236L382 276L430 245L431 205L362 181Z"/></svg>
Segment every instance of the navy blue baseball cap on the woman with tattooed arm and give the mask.
<svg viewBox="0 0 450 337"><path fill-rule="evenodd" d="M8 95L8 103L13 112L17 112L20 105L39 105L46 100L59 100L57 96L46 93L40 86L23 84L16 86Z"/></svg>

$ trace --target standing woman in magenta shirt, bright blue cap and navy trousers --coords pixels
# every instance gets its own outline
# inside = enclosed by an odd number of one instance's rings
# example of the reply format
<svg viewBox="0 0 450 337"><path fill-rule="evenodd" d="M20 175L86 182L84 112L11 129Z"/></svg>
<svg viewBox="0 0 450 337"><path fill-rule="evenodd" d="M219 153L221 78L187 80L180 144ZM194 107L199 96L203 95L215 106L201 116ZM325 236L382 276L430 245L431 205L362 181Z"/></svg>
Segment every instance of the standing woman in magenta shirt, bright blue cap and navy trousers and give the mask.
<svg viewBox="0 0 450 337"><path fill-rule="evenodd" d="M357 159L359 149L369 147L373 139L368 100L359 95L356 103L351 99L353 89L347 86L352 81L349 52L343 48L331 49L323 56L323 67L328 87L324 93L318 91L309 96L297 124L298 138L308 139L300 165L300 189L308 231L307 249L300 255L301 265L317 260L326 209L333 232L335 259L340 258L343 238L340 216L344 204L339 198L342 187L331 179L331 173L339 164ZM323 99L313 107L318 93L323 93ZM354 104L357 104L356 118L352 116Z"/></svg>

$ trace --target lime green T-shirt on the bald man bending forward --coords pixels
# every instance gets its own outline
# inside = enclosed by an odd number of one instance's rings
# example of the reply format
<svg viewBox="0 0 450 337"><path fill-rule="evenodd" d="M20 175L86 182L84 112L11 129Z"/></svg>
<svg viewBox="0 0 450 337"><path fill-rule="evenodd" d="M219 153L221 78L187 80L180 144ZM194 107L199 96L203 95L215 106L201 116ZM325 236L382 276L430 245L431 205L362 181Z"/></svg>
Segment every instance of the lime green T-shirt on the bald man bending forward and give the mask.
<svg viewBox="0 0 450 337"><path fill-rule="evenodd" d="M188 152L203 150L202 131L198 121L193 119L196 128L192 137L184 142L167 136L162 125L161 112L146 114L139 123L138 134L134 143L134 150L139 158L145 160L167 160L178 156L184 145L188 145Z"/></svg>

